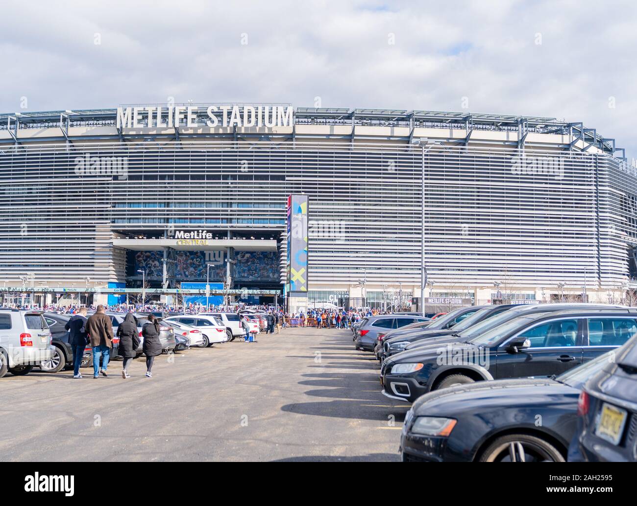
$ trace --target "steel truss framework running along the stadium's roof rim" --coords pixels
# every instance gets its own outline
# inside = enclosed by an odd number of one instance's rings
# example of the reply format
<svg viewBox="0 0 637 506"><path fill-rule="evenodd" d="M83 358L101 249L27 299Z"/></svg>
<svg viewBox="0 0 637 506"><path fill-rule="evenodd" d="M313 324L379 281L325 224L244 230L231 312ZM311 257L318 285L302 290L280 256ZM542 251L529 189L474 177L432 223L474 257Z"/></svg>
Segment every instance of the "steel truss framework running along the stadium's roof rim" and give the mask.
<svg viewBox="0 0 637 506"><path fill-rule="evenodd" d="M204 122L208 118L206 109L211 104L174 104L183 106L200 106L197 111L197 120ZM243 104L236 104L243 106ZM260 104L266 106L283 105L289 106L289 104ZM166 104L135 104L135 106L162 106ZM220 114L220 112L218 113ZM142 121L147 118L146 111L141 111ZM203 123L204 124L204 123ZM381 126L381 127L409 127L410 134L408 136L384 136L383 139L401 139L411 142L413 139L414 129L416 127L425 128L438 128L438 129L454 129L464 130L465 135L461 139L457 137L449 138L447 142L454 144L468 144L471 139L471 134L474 130L492 130L492 131L510 131L517 132L517 141L512 141L511 144L517 144L517 147L524 149L524 143L529 133L540 134L562 134L565 136L573 137L573 141L569 144L564 144L562 148L568 150L574 150L576 144L583 143L582 151L587 151L592 146L599 150L608 153L615 157L615 153L618 151L621 153L622 160L626 160L626 151L624 148L617 148L615 146L615 139L606 138L598 134L596 129L584 127L582 122L564 122L555 118L543 118L540 116L514 116L514 115L495 115L495 114L482 114L482 113L459 113L459 112L444 112L444 111L417 111L407 109L348 109L348 108L307 108L299 107L294 111L294 125L351 125L352 127L365 127L365 126ZM143 138L149 139L155 138L168 138L179 141L180 137L199 137L199 138L215 138L225 137L227 133L183 133L182 127L175 128L171 134L124 134L121 129L117 129L115 134L97 134L97 135L82 135L81 137L69 136L69 129L71 127L114 127L117 128L117 109L80 109L80 110L64 110L64 111L40 111L40 112L16 112L16 113L0 113L0 131L7 130L10 134L10 139L2 141L1 143L13 143L18 145L20 143L29 142L42 142L59 140L57 137L19 137L18 129L47 129L59 127L62 136L68 143L73 140L102 140L102 139L119 139L124 141L125 139ZM343 136L345 139L351 139L353 142L357 137L355 128L352 128L352 133L347 136ZM237 132L236 128L233 132L233 138L236 141L239 137L253 137L255 141L259 139L273 141L273 139L289 138L294 141L299 136L296 132L296 128L292 129L290 134L247 134ZM338 138L334 135L326 136L314 136L304 135L303 137L329 137ZM369 138L369 136L364 136Z"/></svg>

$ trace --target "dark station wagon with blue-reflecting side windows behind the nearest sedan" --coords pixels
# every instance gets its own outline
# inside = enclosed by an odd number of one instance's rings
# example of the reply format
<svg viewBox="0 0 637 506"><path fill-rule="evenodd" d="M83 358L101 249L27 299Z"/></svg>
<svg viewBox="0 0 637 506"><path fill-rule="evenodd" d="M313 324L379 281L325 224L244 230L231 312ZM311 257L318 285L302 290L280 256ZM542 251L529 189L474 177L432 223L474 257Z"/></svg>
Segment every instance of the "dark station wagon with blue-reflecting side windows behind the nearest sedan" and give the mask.
<svg viewBox="0 0 637 506"><path fill-rule="evenodd" d="M609 329L598 332L598 328ZM561 374L637 334L637 309L518 316L467 342L408 349L381 367L383 394L413 402L431 390L475 381Z"/></svg>

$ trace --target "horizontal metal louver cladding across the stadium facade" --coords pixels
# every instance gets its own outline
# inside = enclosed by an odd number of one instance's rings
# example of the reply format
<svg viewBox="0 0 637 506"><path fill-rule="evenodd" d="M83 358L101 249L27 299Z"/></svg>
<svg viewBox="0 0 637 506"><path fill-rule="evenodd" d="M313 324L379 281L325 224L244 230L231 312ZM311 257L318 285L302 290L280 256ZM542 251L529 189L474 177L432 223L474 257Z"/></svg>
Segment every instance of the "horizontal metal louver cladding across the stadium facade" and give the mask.
<svg viewBox="0 0 637 506"><path fill-rule="evenodd" d="M122 158L126 173L76 170L77 159ZM549 160L540 170L520 159ZM0 151L0 281L33 272L64 283L124 281L118 234L175 227L230 232L285 228L285 202L311 202L310 286L420 283L614 285L637 242L637 176L606 153L404 142L104 141ZM525 162L526 163L526 162ZM548 170L545 170L548 167ZM285 272L282 272L282 279Z"/></svg>

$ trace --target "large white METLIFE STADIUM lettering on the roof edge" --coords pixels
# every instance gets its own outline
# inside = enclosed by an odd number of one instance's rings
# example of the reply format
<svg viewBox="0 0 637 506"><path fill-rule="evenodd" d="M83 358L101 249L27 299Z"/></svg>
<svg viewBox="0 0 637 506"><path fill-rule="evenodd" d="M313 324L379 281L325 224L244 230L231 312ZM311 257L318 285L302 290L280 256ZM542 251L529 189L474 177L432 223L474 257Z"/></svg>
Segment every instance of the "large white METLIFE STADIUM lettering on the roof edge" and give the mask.
<svg viewBox="0 0 637 506"><path fill-rule="evenodd" d="M292 106L148 106L118 107L118 129L196 127L292 127Z"/></svg>

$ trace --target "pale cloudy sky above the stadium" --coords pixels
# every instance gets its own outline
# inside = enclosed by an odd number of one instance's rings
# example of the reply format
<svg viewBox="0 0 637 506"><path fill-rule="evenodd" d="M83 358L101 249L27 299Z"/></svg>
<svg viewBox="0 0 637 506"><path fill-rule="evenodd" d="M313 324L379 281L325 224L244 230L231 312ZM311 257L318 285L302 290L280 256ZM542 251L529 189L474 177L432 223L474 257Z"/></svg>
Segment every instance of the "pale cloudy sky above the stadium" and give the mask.
<svg viewBox="0 0 637 506"><path fill-rule="evenodd" d="M174 97L538 115L637 158L629 0L32 0L1 15L1 112Z"/></svg>

